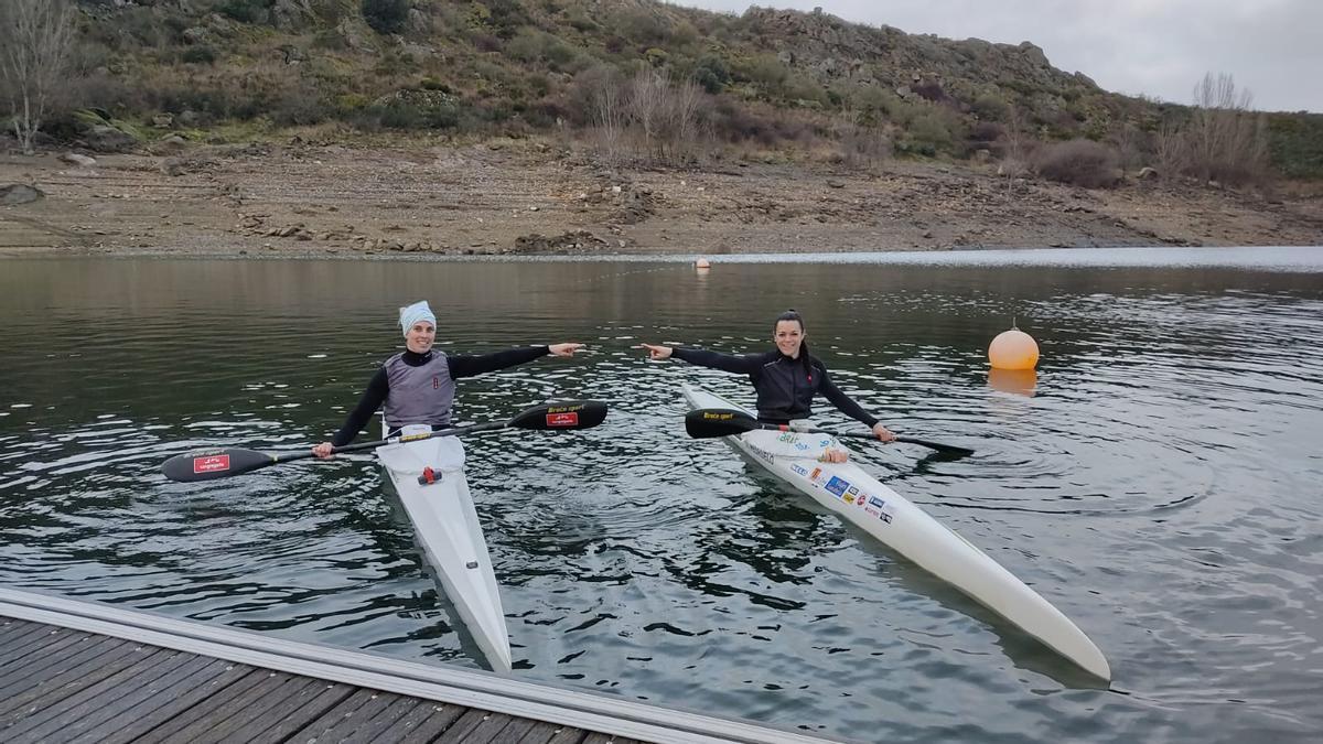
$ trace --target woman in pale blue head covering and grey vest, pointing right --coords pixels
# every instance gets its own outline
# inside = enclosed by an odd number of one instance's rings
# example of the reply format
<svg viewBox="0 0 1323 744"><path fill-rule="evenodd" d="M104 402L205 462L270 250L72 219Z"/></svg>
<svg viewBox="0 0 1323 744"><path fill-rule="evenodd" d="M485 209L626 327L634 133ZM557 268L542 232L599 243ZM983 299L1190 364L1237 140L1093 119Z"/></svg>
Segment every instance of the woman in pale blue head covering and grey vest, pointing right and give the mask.
<svg viewBox="0 0 1323 744"><path fill-rule="evenodd" d="M576 351L583 348L579 343L561 343L519 347L480 356L447 355L431 348L437 340L437 315L426 301L401 307L400 327L405 334L405 351L392 356L377 369L359 405L331 441L312 447L318 457L331 457L332 447L352 442L382 405L392 432L406 424L427 424L433 430L445 429L450 426L450 410L455 402L455 380L527 364L548 353L574 356Z"/></svg>

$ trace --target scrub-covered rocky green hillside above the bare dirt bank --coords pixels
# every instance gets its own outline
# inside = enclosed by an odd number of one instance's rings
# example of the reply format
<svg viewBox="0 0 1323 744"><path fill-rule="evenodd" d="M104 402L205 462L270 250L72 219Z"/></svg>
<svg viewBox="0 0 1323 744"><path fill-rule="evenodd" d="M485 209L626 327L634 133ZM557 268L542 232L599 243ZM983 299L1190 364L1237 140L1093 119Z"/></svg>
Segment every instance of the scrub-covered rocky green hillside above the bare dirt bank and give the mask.
<svg viewBox="0 0 1323 744"><path fill-rule="evenodd" d="M1040 143L1090 140L1103 146L1091 152L1099 167L1138 171L1162 150L1164 122L1189 115L1058 70L1031 42L953 41L816 12L722 15L655 0L78 5L78 73L48 131L98 147L86 136L99 127L115 140L106 148L159 130L212 140L288 127L331 138L586 136L603 126L607 93L624 101L640 70L701 86L703 146L681 158L736 148L1007 160ZM1320 130L1323 116L1277 115L1277 169L1323 176Z"/></svg>

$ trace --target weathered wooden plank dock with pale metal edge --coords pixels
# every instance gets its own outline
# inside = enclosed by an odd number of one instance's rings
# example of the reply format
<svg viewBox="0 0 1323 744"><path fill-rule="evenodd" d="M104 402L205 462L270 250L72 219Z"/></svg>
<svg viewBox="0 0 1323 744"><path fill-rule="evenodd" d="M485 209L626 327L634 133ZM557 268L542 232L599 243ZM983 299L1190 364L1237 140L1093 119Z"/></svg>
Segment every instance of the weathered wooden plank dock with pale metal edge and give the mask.
<svg viewBox="0 0 1323 744"><path fill-rule="evenodd" d="M824 740L513 676L0 588L0 741Z"/></svg>

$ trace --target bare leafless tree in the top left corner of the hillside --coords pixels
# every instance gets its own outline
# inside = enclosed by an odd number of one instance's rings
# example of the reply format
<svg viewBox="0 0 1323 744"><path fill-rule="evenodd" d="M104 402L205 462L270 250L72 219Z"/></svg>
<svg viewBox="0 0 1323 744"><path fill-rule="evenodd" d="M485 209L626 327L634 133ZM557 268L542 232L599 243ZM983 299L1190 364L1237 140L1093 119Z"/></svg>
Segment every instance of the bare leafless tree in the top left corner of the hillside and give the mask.
<svg viewBox="0 0 1323 744"><path fill-rule="evenodd" d="M0 77L9 90L13 131L28 155L73 48L67 0L0 0Z"/></svg>

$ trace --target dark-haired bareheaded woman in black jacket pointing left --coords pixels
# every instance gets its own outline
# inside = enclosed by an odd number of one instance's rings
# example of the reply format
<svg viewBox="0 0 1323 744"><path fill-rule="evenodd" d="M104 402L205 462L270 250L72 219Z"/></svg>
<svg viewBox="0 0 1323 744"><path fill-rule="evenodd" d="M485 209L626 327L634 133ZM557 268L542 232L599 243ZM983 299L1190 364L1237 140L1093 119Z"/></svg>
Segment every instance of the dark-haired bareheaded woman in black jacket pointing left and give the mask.
<svg viewBox="0 0 1323 744"><path fill-rule="evenodd" d="M884 442L896 438L886 426L860 408L857 402L840 392L820 359L808 353L804 338L804 319L794 310L777 316L771 340L773 351L732 356L701 348L668 347L643 344L651 359L683 359L689 364L749 375L754 391L758 392L758 421L765 424L790 424L794 420L808 418L812 414L810 404L814 395L822 393L841 413L873 430ZM828 459L843 462L845 453L828 450Z"/></svg>

